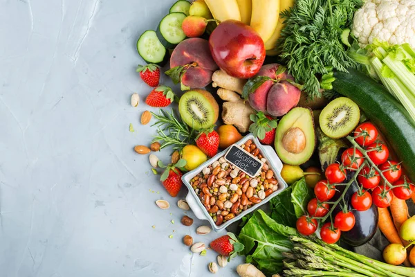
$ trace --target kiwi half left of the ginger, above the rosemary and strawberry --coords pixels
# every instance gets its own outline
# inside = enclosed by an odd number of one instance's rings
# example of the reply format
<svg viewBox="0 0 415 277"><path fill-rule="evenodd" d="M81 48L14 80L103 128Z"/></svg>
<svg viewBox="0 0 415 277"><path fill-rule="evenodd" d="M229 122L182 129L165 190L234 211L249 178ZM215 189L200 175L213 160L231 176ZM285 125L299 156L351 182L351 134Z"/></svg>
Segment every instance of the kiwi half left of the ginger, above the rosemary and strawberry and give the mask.
<svg viewBox="0 0 415 277"><path fill-rule="evenodd" d="M192 89L178 102L182 120L196 130L214 125L219 117L219 105L212 94L203 89Z"/></svg>

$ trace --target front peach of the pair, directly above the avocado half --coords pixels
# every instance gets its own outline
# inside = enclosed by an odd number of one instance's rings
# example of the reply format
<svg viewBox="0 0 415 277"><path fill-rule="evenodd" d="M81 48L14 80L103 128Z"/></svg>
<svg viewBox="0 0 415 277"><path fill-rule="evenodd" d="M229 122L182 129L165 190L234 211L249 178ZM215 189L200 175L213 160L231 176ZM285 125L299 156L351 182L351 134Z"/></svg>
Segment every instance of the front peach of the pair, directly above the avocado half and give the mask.
<svg viewBox="0 0 415 277"><path fill-rule="evenodd" d="M273 85L268 92L266 110L271 116L284 116L298 104L301 91L287 81Z"/></svg>

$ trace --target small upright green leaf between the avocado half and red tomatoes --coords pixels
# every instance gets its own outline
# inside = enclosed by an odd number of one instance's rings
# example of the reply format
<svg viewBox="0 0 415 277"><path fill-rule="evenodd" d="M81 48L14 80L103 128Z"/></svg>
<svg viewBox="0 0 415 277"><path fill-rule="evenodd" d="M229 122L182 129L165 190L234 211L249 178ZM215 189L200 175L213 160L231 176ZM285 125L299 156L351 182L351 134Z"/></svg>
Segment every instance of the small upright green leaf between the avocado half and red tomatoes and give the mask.
<svg viewBox="0 0 415 277"><path fill-rule="evenodd" d="M313 198L313 193L308 188L304 177L296 181L291 187L293 188L291 203L294 205L295 216L298 218L307 213L307 204Z"/></svg>

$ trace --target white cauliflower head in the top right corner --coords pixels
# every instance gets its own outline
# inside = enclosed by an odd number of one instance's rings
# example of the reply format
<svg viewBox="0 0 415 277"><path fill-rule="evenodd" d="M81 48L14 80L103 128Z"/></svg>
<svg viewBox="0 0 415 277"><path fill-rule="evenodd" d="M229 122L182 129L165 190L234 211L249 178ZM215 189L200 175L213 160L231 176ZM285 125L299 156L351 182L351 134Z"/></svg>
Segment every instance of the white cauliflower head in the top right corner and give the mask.
<svg viewBox="0 0 415 277"><path fill-rule="evenodd" d="M368 0L355 12L352 34L359 46L379 39L415 48L415 0Z"/></svg>

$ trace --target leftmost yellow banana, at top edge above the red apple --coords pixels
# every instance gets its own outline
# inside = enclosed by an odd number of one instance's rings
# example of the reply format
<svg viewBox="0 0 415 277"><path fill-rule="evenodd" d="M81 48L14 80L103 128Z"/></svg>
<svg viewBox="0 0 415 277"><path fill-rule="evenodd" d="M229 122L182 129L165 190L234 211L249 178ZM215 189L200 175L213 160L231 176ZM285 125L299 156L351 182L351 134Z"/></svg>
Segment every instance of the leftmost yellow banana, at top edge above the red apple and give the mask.
<svg viewBox="0 0 415 277"><path fill-rule="evenodd" d="M235 19L241 21L237 0L205 0L214 19L225 21Z"/></svg>

